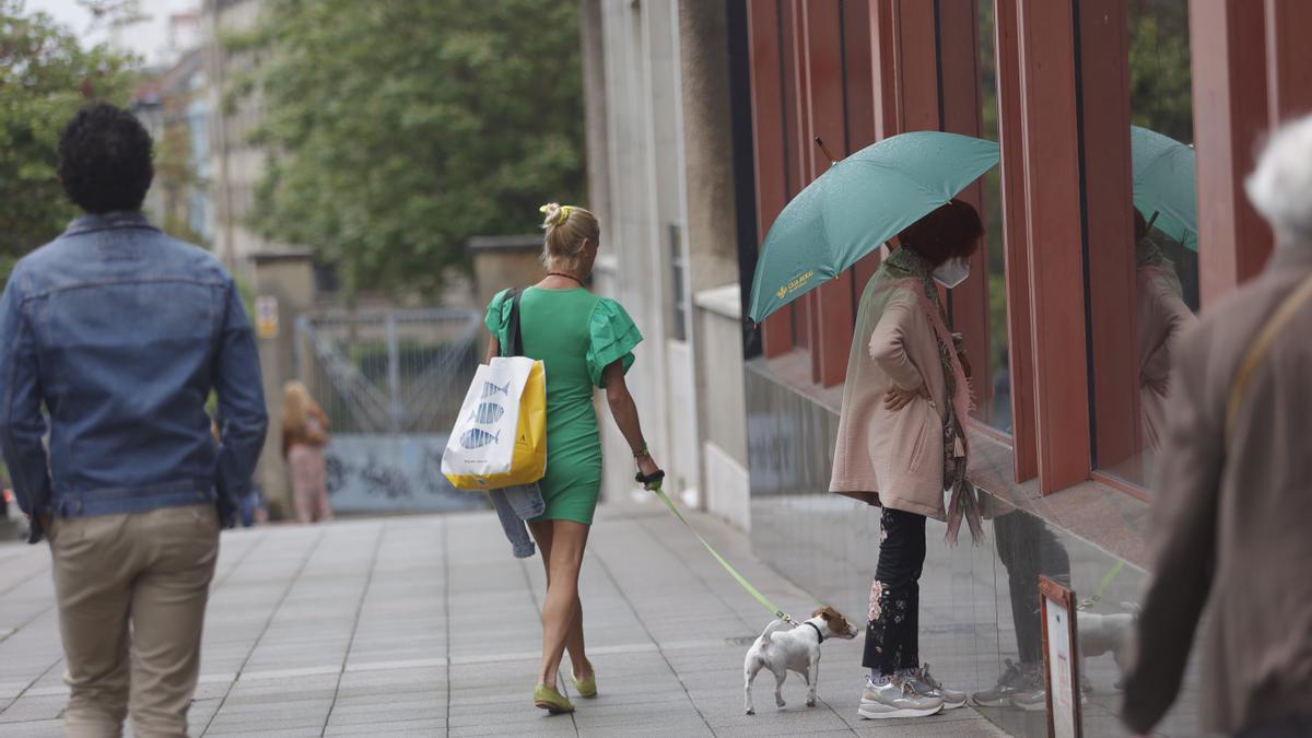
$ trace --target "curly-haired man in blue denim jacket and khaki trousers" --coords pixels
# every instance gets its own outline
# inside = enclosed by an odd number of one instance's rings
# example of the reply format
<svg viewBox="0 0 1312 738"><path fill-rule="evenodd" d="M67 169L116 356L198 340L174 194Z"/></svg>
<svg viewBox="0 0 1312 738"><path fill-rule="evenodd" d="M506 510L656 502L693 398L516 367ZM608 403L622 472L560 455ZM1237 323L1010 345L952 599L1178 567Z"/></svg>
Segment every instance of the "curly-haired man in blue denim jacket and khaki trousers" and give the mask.
<svg viewBox="0 0 1312 738"><path fill-rule="evenodd" d="M0 441L30 542L50 540L66 734L118 735L130 703L136 735L185 735L219 528L268 425L255 339L223 267L142 215L136 118L83 108L59 160L87 215L9 277Z"/></svg>

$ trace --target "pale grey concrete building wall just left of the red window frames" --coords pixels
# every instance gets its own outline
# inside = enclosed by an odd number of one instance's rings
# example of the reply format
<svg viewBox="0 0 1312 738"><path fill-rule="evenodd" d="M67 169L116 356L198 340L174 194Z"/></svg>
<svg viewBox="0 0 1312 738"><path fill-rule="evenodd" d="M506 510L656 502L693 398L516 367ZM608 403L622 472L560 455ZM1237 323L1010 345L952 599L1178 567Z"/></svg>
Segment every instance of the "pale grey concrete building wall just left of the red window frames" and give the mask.
<svg viewBox="0 0 1312 738"><path fill-rule="evenodd" d="M711 431L712 415L743 416L741 334L694 306L737 282L726 33L716 3L584 3L589 192L605 209L597 292L647 337L628 383L666 491L747 528L741 429ZM605 490L631 488L627 444L602 428Z"/></svg>

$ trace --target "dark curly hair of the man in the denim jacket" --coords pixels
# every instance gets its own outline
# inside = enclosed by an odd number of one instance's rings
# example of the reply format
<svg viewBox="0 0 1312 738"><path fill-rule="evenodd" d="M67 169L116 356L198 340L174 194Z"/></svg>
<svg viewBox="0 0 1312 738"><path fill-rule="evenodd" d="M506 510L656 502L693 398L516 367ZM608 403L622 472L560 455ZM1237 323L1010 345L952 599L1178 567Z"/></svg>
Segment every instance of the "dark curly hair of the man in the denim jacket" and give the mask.
<svg viewBox="0 0 1312 738"><path fill-rule="evenodd" d="M139 210L154 176L151 134L122 108L84 105L59 135L59 179L88 213Z"/></svg>

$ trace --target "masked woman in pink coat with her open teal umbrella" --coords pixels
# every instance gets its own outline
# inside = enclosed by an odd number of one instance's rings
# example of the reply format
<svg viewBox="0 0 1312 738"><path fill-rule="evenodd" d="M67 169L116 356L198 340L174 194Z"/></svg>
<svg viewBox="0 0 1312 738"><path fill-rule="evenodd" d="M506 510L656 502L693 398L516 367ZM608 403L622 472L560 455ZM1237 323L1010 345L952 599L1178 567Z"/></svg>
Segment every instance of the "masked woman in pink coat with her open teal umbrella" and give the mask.
<svg viewBox="0 0 1312 738"><path fill-rule="evenodd" d="M785 206L752 277L748 315L761 323L892 236L901 243L861 298L829 485L883 507L862 717L921 717L966 704L964 693L921 667L917 650L925 520L947 521L949 541L962 520L976 540L983 536L962 431L970 366L959 336L947 331L935 282L951 289L968 276L984 226L955 197L997 162L997 143L943 131L872 143L834 162Z"/></svg>

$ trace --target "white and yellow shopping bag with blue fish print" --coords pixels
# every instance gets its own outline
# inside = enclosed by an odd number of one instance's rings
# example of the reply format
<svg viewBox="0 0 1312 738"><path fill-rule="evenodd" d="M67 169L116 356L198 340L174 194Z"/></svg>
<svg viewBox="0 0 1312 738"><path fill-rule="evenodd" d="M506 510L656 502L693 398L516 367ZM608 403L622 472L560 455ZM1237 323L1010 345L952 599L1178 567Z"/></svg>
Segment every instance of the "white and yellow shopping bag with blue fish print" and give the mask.
<svg viewBox="0 0 1312 738"><path fill-rule="evenodd" d="M526 394L530 377L535 382ZM542 478L543 387L542 362L533 358L497 356L479 366L442 454L442 474L451 485L493 490Z"/></svg>

